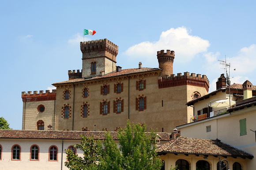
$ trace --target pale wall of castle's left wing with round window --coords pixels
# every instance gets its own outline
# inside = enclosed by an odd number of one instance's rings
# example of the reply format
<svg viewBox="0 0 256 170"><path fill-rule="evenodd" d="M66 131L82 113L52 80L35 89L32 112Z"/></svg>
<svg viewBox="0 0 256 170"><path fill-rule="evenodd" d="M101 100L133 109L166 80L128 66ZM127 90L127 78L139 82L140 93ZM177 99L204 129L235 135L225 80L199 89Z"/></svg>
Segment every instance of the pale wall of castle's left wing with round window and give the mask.
<svg viewBox="0 0 256 170"><path fill-rule="evenodd" d="M26 105L26 106L25 106ZM38 106L44 105L45 111L38 112ZM54 126L54 100L51 101L31 101L23 102L23 130L37 130L38 120L42 120L45 123L45 129L51 124Z"/></svg>

